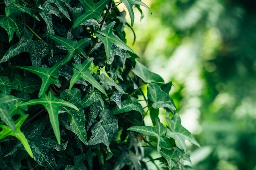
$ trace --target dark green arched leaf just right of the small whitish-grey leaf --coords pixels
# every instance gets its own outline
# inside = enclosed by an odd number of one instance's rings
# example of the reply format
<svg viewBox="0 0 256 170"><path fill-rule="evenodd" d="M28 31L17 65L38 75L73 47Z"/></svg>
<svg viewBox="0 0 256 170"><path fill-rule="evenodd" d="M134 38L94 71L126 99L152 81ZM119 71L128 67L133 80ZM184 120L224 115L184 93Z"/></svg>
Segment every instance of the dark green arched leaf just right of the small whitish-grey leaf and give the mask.
<svg viewBox="0 0 256 170"><path fill-rule="evenodd" d="M129 112L132 110L138 111L141 114L141 117L144 118L143 108L141 104L139 104L138 99L136 99L135 97L131 97L130 99L124 100L121 104L121 108L119 108L118 106L115 106L115 108L111 110L111 113L113 115L117 115L120 113Z"/></svg>

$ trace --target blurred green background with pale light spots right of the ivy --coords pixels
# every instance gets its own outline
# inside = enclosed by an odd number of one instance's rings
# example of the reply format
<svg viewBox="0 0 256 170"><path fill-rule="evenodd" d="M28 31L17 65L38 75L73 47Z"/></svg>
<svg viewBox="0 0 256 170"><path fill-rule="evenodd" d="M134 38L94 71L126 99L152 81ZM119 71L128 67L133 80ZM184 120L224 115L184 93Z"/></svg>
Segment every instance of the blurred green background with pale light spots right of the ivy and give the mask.
<svg viewBox="0 0 256 170"><path fill-rule="evenodd" d="M190 146L194 169L256 170L256 1L143 2L152 15L135 16L132 48L173 82L182 125L201 145Z"/></svg>

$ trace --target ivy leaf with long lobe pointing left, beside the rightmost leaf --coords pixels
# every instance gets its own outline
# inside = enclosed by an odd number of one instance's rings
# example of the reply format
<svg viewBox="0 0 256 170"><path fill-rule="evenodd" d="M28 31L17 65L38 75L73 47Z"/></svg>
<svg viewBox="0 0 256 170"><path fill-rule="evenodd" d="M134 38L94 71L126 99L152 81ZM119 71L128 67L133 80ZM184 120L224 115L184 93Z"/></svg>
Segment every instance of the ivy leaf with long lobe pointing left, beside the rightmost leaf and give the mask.
<svg viewBox="0 0 256 170"><path fill-rule="evenodd" d="M160 122L160 119L157 115L155 115L155 127L152 126L133 126L128 128L127 130L132 130L135 132L142 133L146 136L157 137L157 152L159 153L161 150L161 146L168 147L169 141L166 136L167 128Z"/></svg>

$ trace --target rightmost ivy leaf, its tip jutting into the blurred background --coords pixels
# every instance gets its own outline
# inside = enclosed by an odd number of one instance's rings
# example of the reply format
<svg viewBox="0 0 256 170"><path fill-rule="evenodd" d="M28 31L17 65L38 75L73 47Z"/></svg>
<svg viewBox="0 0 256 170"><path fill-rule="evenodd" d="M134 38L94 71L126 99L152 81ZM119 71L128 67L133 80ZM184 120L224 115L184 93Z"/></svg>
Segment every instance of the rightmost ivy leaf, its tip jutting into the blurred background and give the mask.
<svg viewBox="0 0 256 170"><path fill-rule="evenodd" d="M191 144L195 144L200 147L200 145L193 138L191 133L181 125L181 119L178 114L173 115L172 119L166 118L166 121L169 128L169 130L167 130L166 136L177 140L185 152L186 152L185 140L189 140Z"/></svg>

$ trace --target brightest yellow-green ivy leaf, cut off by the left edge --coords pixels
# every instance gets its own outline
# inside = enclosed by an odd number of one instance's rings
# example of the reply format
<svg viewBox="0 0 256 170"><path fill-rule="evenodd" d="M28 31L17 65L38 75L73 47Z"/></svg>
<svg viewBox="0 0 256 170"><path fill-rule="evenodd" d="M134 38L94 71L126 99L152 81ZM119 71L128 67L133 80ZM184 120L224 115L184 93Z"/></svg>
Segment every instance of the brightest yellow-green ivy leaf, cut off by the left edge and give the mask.
<svg viewBox="0 0 256 170"><path fill-rule="evenodd" d="M20 116L15 122L15 128L16 128L16 133L13 132L13 130L11 130L11 128L9 128L8 126L5 125L0 125L0 128L2 128L1 132L0 132L0 140L4 139L5 137L11 135L14 137L17 137L21 143L23 144L24 148L26 149L27 153L29 154L29 156L31 158L33 158L33 153L31 151L31 148L29 146L29 143L25 137L25 135L23 134L23 132L20 130L20 126L24 123L24 121L27 119L29 115L23 115Z"/></svg>

